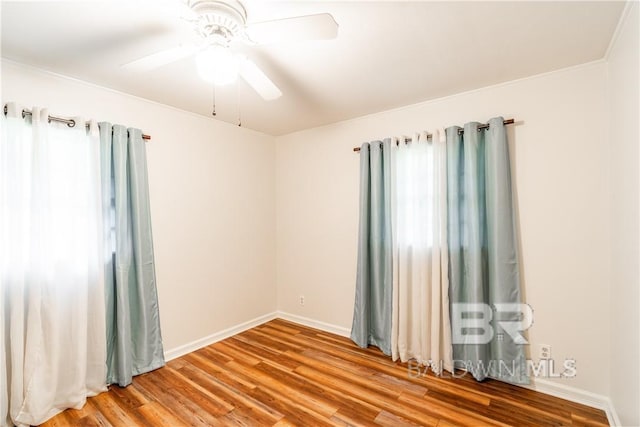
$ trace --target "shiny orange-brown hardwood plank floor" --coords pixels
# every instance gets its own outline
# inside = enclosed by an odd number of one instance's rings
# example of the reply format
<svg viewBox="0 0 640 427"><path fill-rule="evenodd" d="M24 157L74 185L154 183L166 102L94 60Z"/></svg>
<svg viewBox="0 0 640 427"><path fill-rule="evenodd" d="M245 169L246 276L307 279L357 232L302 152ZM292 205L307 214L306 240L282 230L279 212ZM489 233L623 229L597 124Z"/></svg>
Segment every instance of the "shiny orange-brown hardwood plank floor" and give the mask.
<svg viewBox="0 0 640 427"><path fill-rule="evenodd" d="M127 388L112 386L44 425L608 425L600 410L521 387L408 372L377 349L278 319Z"/></svg>

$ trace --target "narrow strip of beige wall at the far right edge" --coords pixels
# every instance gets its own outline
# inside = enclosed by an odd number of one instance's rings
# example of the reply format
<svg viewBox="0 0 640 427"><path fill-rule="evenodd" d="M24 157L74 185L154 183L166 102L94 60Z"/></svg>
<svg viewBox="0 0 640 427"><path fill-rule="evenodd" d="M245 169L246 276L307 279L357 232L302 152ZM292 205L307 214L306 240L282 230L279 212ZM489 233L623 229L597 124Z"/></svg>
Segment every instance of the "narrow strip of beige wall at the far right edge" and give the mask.
<svg viewBox="0 0 640 427"><path fill-rule="evenodd" d="M611 400L623 425L640 425L640 5L621 21L608 61L611 117Z"/></svg>

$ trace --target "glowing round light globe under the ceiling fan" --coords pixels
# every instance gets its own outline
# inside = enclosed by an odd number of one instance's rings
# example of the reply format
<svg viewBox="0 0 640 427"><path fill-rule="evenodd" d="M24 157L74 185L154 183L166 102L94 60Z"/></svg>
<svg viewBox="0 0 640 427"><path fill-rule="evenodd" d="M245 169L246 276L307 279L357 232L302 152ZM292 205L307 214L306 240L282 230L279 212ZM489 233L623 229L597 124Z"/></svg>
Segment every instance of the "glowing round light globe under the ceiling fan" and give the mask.
<svg viewBox="0 0 640 427"><path fill-rule="evenodd" d="M217 86L234 83L238 78L238 59L229 48L209 46L196 56L200 78Z"/></svg>

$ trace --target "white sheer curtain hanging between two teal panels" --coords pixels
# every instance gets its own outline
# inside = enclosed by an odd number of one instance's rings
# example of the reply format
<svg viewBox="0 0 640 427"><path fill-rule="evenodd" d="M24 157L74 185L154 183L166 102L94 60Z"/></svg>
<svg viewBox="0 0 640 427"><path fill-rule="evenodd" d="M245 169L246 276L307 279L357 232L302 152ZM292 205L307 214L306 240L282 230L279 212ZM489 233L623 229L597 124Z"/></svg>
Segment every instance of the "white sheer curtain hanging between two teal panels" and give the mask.
<svg viewBox="0 0 640 427"><path fill-rule="evenodd" d="M392 357L453 369L444 130L398 145L394 172Z"/></svg>

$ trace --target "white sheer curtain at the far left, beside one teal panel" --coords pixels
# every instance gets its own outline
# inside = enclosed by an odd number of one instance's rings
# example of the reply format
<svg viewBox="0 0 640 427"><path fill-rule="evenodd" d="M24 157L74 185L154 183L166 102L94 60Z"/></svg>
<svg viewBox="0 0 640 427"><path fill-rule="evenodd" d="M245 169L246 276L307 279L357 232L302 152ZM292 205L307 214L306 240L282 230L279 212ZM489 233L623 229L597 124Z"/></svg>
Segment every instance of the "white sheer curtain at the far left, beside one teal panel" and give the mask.
<svg viewBox="0 0 640 427"><path fill-rule="evenodd" d="M106 390L98 127L32 113L9 104L1 120L1 425Z"/></svg>

